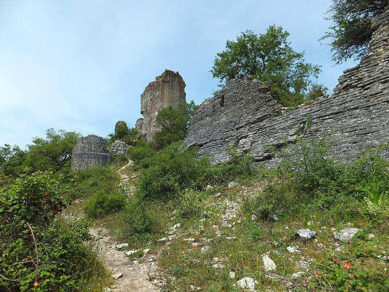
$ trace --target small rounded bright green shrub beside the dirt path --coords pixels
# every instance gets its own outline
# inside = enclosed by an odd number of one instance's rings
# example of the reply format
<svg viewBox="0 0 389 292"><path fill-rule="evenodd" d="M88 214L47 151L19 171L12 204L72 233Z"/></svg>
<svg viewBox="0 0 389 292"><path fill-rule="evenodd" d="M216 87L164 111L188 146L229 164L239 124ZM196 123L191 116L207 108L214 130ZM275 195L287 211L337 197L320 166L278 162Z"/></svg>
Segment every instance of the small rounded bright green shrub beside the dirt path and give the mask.
<svg viewBox="0 0 389 292"><path fill-rule="evenodd" d="M120 212L125 206L125 196L119 192L106 194L101 190L90 197L84 210L88 218L98 218L108 213Z"/></svg>

